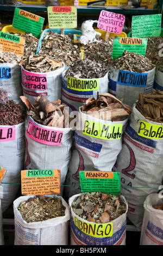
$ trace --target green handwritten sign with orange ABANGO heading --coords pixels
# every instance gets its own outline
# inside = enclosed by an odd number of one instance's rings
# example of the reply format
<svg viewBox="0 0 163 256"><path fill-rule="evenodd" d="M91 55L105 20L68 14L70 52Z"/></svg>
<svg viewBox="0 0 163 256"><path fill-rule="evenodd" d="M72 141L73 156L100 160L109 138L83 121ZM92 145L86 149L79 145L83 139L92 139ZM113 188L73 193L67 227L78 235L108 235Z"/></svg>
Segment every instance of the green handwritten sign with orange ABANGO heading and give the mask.
<svg viewBox="0 0 163 256"><path fill-rule="evenodd" d="M120 173L101 171L80 171L80 187L82 193L102 192L106 194L120 194Z"/></svg>

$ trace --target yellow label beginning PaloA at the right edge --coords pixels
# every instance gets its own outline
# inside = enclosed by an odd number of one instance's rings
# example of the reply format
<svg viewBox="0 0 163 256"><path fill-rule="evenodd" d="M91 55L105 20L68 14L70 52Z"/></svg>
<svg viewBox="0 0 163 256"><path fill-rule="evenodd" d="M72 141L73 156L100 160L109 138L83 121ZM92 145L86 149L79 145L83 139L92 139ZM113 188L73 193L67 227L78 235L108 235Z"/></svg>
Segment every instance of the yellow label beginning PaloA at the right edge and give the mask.
<svg viewBox="0 0 163 256"><path fill-rule="evenodd" d="M163 125L150 124L145 121L140 121L137 134L145 138L163 139Z"/></svg>

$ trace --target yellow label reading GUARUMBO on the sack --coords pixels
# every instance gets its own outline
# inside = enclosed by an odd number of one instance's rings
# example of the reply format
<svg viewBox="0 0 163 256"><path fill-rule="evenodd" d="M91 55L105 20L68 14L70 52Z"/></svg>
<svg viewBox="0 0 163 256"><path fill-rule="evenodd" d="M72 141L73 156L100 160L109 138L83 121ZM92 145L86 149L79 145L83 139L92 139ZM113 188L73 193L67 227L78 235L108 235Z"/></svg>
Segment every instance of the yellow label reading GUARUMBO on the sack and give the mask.
<svg viewBox="0 0 163 256"><path fill-rule="evenodd" d="M99 79L77 79L74 77L67 77L67 88L78 91L98 90Z"/></svg>

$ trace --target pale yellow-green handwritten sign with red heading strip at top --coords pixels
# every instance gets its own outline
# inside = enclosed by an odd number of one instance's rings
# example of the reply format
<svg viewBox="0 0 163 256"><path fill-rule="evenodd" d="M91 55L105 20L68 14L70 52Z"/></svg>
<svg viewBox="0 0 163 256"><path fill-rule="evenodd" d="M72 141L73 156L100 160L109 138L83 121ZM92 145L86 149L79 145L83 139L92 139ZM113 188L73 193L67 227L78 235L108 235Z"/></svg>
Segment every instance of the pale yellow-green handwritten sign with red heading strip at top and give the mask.
<svg viewBox="0 0 163 256"><path fill-rule="evenodd" d="M77 7L48 7L49 28L77 28Z"/></svg>

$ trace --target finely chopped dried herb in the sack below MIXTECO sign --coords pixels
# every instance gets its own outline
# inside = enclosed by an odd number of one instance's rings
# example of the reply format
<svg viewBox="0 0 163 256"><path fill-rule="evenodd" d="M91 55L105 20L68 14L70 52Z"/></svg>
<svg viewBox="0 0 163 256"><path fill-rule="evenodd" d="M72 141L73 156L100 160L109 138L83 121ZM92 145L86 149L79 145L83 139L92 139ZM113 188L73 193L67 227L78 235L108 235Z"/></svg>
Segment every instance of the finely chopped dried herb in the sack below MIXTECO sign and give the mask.
<svg viewBox="0 0 163 256"><path fill-rule="evenodd" d="M65 216L65 206L57 197L31 197L22 202L17 209L27 223Z"/></svg>

